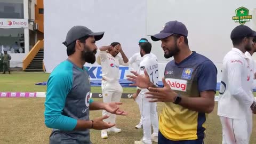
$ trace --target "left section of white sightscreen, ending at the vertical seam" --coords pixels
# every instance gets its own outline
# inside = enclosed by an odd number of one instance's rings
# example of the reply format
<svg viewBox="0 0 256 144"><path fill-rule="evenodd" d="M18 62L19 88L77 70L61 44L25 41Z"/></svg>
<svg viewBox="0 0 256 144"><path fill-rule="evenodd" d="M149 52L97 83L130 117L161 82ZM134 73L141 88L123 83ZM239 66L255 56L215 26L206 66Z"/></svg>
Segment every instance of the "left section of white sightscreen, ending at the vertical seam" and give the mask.
<svg viewBox="0 0 256 144"><path fill-rule="evenodd" d="M58 7L57 7L58 6ZM67 31L82 25L105 31L98 47L120 42L127 57L139 52L138 42L146 36L146 0L44 1L44 64L47 72L67 58ZM91 65L88 65L91 66ZM96 70L97 71L97 70Z"/></svg>

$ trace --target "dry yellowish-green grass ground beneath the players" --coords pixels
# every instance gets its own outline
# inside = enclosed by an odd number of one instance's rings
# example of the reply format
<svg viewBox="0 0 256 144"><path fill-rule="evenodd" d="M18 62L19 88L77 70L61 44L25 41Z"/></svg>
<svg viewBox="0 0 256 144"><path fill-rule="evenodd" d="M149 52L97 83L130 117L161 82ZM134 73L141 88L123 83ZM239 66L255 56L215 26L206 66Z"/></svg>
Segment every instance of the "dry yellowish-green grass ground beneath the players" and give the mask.
<svg viewBox="0 0 256 144"><path fill-rule="evenodd" d="M47 81L49 74L13 73L0 75L0 91L45 92L46 86L36 86L37 82ZM125 93L132 93L135 89L125 88ZM101 92L100 87L92 87L92 92ZM0 98L0 143L49 143L51 129L44 125L44 100L45 98ZM101 98L94 99L102 101ZM142 130L134 126L139 122L140 114L137 104L132 99L122 99L122 109L128 111L127 116L117 116L117 127L121 133L109 133L109 138L100 138L100 131L91 130L93 143L134 143L142 138ZM161 113L163 103L157 103L158 115ZM217 116L217 106L208 115L205 143L221 143L221 124ZM100 117L102 111L91 111L90 118ZM253 116L253 127L256 126L256 116ZM253 129L251 142L256 143L256 129Z"/></svg>

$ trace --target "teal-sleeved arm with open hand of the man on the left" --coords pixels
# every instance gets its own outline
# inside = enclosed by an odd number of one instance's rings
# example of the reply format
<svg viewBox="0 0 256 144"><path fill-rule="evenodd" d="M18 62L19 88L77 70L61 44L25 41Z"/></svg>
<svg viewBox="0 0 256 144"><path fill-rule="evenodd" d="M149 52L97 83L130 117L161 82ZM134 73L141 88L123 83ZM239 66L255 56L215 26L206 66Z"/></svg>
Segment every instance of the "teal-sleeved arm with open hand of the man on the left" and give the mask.
<svg viewBox="0 0 256 144"><path fill-rule="evenodd" d="M50 76L47 83L47 94L44 103L44 117L45 125L47 127L63 131L73 131L86 129L103 130L115 125L103 122L103 119L108 118L108 116L94 118L93 121L86 121L62 115L66 97L71 90L71 86L72 77L68 74L60 73L58 75Z"/></svg>

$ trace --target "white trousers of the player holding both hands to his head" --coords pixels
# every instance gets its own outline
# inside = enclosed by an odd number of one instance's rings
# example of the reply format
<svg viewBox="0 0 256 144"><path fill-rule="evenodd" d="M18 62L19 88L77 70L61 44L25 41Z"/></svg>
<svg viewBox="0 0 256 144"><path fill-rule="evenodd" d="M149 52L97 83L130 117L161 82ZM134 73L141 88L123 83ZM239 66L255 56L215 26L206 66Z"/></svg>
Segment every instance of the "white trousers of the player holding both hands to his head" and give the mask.
<svg viewBox="0 0 256 144"><path fill-rule="evenodd" d="M103 102L120 102L121 95L123 93L123 88L117 83L108 83L107 81L102 80L101 82L102 98ZM106 110L102 111L102 116L108 115L109 118L104 119L104 122L110 122L111 124L116 123L116 115L110 114Z"/></svg>

